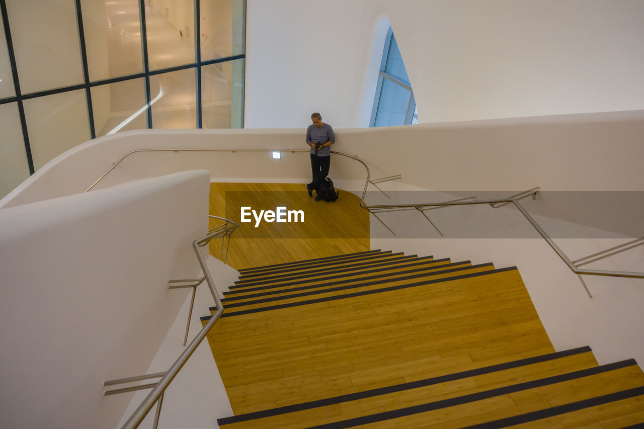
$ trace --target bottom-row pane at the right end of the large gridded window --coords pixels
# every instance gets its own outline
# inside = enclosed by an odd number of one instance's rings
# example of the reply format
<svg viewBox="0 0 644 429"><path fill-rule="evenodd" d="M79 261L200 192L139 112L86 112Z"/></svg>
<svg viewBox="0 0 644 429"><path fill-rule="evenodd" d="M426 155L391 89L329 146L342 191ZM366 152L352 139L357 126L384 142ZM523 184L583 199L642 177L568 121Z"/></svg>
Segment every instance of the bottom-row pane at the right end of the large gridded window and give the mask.
<svg viewBox="0 0 644 429"><path fill-rule="evenodd" d="M244 60L202 68L202 127L243 128Z"/></svg>

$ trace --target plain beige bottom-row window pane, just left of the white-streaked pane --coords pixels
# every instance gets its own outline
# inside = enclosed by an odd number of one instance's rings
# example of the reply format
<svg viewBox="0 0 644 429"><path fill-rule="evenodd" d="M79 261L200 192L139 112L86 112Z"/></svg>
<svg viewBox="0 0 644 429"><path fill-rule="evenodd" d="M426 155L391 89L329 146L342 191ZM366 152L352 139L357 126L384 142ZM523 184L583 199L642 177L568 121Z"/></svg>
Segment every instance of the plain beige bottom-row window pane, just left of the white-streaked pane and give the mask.
<svg viewBox="0 0 644 429"><path fill-rule="evenodd" d="M35 169L90 140L84 90L25 100L24 114Z"/></svg>

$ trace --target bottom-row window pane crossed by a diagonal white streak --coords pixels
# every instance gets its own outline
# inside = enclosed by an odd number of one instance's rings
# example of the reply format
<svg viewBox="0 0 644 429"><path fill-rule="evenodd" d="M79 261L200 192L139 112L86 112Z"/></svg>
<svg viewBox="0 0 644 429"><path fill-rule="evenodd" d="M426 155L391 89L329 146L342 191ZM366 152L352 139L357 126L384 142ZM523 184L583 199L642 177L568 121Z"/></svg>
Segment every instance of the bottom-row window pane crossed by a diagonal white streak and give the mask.
<svg viewBox="0 0 644 429"><path fill-rule="evenodd" d="M91 88L91 104L96 137L147 128L143 78L95 86Z"/></svg>

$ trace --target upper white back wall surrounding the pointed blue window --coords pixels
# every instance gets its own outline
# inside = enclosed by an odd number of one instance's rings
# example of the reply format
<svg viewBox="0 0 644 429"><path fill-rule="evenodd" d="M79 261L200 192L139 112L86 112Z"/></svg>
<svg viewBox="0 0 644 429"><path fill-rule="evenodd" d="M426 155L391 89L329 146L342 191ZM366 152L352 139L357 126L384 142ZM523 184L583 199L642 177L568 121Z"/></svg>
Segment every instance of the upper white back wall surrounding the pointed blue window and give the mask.
<svg viewBox="0 0 644 429"><path fill-rule="evenodd" d="M383 15L420 122L644 108L639 0L249 0L247 128L368 126ZM380 36L381 37L381 36ZM375 70L373 70L375 65Z"/></svg>

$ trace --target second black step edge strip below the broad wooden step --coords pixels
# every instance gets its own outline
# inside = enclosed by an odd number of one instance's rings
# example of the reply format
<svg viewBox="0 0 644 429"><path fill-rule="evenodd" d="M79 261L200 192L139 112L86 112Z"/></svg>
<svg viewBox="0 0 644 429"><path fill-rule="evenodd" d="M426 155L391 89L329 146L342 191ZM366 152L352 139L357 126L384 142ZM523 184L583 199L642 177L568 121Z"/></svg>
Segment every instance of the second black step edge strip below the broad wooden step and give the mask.
<svg viewBox="0 0 644 429"><path fill-rule="evenodd" d="M560 374L558 376L547 377L547 378L542 378L542 379L533 380L533 381L527 381L526 383L519 383L517 385L504 386L500 388L486 390L485 392L478 392L475 394L469 394L469 395L454 397L450 399L443 399L442 401L435 401L435 402L422 404L422 405L408 406L406 408L400 408L399 410L385 411L377 414L365 415L363 417L355 417L354 419L347 419L347 420L343 420L335 423L320 424L319 426L311 426L308 429L351 428L353 426L359 426L361 424L369 424L369 423L375 423L378 421L397 419L399 417L406 417L407 415L420 414L428 411L439 410L440 408L447 408L448 406L462 405L462 404L471 403L475 401L481 401L482 399L488 399L490 397L502 396L502 395L507 395L515 392L520 392L521 390L529 390L529 389L537 388L541 386L553 385L554 383L562 383L564 381L570 381L570 380L579 379L582 377L593 376L595 374L601 374L602 372L608 372L619 368L630 367L632 365L637 365L637 363L635 362L635 359L629 359L627 361L621 361L616 363L609 363L608 365L601 365L601 367L587 368L580 371L569 372L567 374ZM634 392L630 392L632 390L636 390L644 394L644 387L626 390L625 392L629 392L629 394L632 394L634 393ZM611 395L605 395L605 396L619 397L620 393L621 392L618 392L618 394L611 394ZM632 396L637 396L639 394L640 393ZM624 399L624 398L619 397L619 399ZM618 401L619 399L611 399L611 401ZM587 403L589 401L590 400L587 399L585 401L580 401L580 402ZM553 407L553 408L559 408L559 407ZM552 410L553 408L548 408L548 410ZM586 408L586 407L584 406L583 408ZM544 411L547 411L547 410L540 410L539 412L544 412ZM533 413L529 413L529 414L533 414ZM544 417L538 417L538 418L542 419ZM491 423L494 423L494 422L491 422ZM470 428L483 428L483 427L498 428L502 426L483 426L481 424L476 424L475 426L469 426L469 427Z"/></svg>

